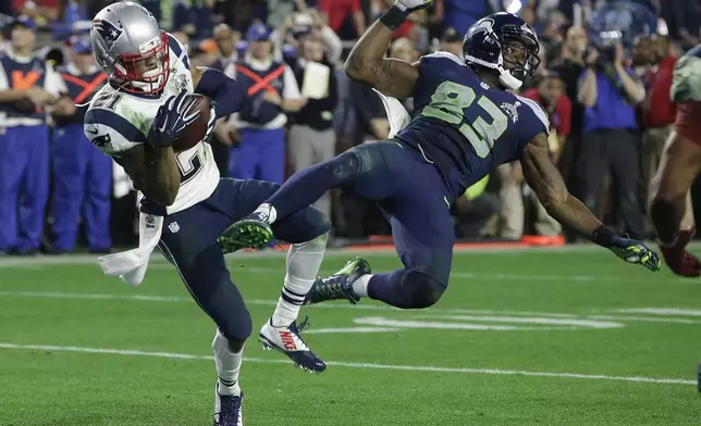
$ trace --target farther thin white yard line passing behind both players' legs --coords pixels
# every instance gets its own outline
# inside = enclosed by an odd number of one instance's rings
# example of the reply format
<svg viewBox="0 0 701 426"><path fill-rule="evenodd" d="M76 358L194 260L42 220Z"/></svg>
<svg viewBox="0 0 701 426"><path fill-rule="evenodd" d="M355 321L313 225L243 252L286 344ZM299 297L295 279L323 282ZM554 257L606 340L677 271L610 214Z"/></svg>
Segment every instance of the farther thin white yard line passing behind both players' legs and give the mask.
<svg viewBox="0 0 701 426"><path fill-rule="evenodd" d="M171 296L149 296L149 295L111 295L111 293L82 293L82 292L61 292L61 291L0 291L2 297L22 297L22 298L40 298L40 299L69 299L69 300L131 300L142 302L194 302L192 298L181 298ZM250 299L246 300L249 305L275 306L276 300L261 300ZM398 308L393 308L383 304L349 304L349 303L330 303L330 304L312 304L305 306L305 309L348 309L356 311L402 311ZM554 318L576 318L574 314L563 313L548 313L548 312L530 312L530 311L495 311L495 310L470 310L470 309L452 309L452 308L431 308L431 312L442 312L452 314L504 314L504 315L520 315L520 316L552 316Z"/></svg>

